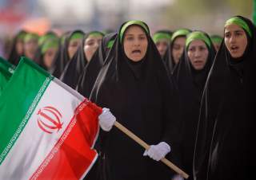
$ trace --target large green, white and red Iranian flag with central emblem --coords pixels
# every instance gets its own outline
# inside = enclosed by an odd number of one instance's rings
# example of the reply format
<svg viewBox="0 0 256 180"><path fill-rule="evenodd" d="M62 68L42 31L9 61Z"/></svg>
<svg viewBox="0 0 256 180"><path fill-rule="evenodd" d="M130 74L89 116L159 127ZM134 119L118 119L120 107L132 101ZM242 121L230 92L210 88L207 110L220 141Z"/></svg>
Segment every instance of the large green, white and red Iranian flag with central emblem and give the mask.
<svg viewBox="0 0 256 180"><path fill-rule="evenodd" d="M98 108L22 57L0 94L0 179L81 179L98 154Z"/></svg>

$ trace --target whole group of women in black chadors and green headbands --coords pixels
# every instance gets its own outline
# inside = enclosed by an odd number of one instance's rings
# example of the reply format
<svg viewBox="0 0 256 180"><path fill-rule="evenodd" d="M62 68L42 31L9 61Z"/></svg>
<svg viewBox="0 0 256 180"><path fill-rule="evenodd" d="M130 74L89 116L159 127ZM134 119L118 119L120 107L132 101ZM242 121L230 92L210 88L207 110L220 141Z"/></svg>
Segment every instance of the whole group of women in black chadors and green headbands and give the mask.
<svg viewBox="0 0 256 180"><path fill-rule="evenodd" d="M52 32L38 37L22 31L9 60L17 65L24 53L108 112L99 116L99 158L86 179L182 179L162 158L189 179L250 179L255 26L235 16L223 37L178 29L151 38L141 21L123 23L118 33L77 30L61 40ZM114 127L116 120L150 148Z"/></svg>

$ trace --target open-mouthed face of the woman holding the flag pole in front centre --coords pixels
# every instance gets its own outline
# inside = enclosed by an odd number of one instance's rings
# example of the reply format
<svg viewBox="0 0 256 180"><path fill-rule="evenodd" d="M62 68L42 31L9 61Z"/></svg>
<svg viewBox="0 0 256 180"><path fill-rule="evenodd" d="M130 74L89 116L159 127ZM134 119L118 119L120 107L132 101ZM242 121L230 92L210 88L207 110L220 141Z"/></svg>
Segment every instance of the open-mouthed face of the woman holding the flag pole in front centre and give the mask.
<svg viewBox="0 0 256 180"><path fill-rule="evenodd" d="M131 61L141 61L146 55L148 40L144 30L138 25L131 25L126 29L123 38L123 47Z"/></svg>

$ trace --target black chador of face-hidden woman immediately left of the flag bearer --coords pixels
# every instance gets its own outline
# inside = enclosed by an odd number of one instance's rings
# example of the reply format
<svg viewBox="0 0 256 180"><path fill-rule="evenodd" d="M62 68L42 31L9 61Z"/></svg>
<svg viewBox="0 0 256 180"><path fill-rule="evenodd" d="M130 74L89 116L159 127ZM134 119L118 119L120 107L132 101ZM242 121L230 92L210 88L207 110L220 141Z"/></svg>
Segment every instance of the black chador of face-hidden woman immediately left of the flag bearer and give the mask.
<svg viewBox="0 0 256 180"><path fill-rule="evenodd" d="M82 94L82 96L90 97L90 92L94 87L94 82L98 76L98 72L102 68L116 37L117 33L106 34L88 65L83 68L82 75L79 77L77 86L77 90Z"/></svg>

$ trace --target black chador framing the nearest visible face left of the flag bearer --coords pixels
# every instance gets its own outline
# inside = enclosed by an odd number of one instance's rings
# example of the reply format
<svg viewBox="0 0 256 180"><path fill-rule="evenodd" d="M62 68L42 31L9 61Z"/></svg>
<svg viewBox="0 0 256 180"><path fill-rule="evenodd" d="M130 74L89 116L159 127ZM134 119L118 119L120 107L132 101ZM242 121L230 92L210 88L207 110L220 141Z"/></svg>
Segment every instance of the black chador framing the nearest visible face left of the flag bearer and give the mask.
<svg viewBox="0 0 256 180"><path fill-rule="evenodd" d="M86 35L82 39L81 45L78 47L77 53L74 54L74 57L66 64L64 71L62 72L62 76L60 80L63 83L69 85L71 88L76 88L78 85L79 76L81 76L84 68L89 65L85 53L84 53L84 45L86 38L90 36L90 34L98 33L98 35L104 36L103 33L98 31L91 31L86 33ZM88 96L87 96L88 97Z"/></svg>

